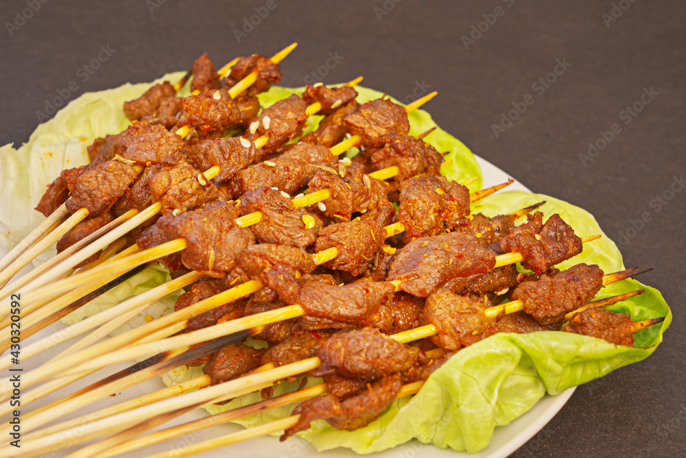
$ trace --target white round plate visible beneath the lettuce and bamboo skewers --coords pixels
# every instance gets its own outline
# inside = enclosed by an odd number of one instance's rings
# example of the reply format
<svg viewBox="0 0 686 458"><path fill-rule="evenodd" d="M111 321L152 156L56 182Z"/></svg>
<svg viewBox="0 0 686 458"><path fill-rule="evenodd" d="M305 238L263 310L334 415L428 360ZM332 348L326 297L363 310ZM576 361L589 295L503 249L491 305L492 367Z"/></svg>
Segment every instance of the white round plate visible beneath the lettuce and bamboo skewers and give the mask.
<svg viewBox="0 0 686 458"><path fill-rule="evenodd" d="M479 165L482 168L482 173L484 176L484 187L488 186L493 186L494 184L498 184L501 182L506 181L509 177L508 175L502 171L501 169L498 169L495 167L493 164L490 162L480 158L477 156L477 161L479 162ZM521 190L521 191L529 191L523 184L520 182L514 182L514 184L508 186L508 190ZM0 254L4 255L6 253L6 250L4 248L0 247L2 250ZM25 272L26 269L24 269L23 272ZM55 330L57 330L60 327L64 327L63 324L54 324L53 326L50 326L49 328L41 331L40 333L36 334L32 338L27 339L23 343L23 345L27 345L29 342L34 341L35 339L40 339L42 337L45 337L49 335L49 333L53 333ZM60 346L57 346L56 348L52 348L49 350L49 352L46 352L46 354L40 354L38 357L34 357L32 359L29 359L23 363L24 370L29 370L32 367L36 367L43 361L47 361L47 359L50 359L52 356L55 354L58 354L58 352L61 352L63 349L67 348L69 345L71 345L73 341L67 341L63 343ZM127 365L120 364L117 365L117 370L123 369L127 367ZM93 383L103 376L107 374L112 373L112 368L109 368L106 371L100 371L96 372L95 374L89 376L88 378L84 379L84 381L81 381L78 384L71 385L71 387L68 387L69 389L65 390L60 390L56 391L56 393L51 394L50 396L47 396L43 400L40 400L38 402L35 402L30 409L34 409L35 407L38 407L39 405L45 405L47 402L51 402L53 400L59 399L60 396L63 396L64 394L67 394L71 391L74 391L75 388L81 388L85 387L90 383ZM158 389L161 389L164 387L164 384L161 381L161 378L154 378L150 381L146 381L144 383L141 383L135 387L132 387L123 393L116 393L114 396L108 396L107 398L103 400L99 400L98 402L95 402L93 405L86 409L81 409L80 411L76 413L72 413L71 415L68 415L68 418L75 418L76 416L80 415L86 415L88 412L93 412L99 409L102 409L104 407L108 407L110 405L113 405L115 403L122 402L123 400L128 400L130 398L137 398L138 396L142 396L143 394L150 393L152 391L156 391ZM514 450L517 450L520 446L522 446L525 442L528 441L531 437L533 437L538 431L540 431L547 422L549 422L556 413L565 405L565 402L569 399L571 394L573 393L574 389L568 389L567 391L564 391L563 393L559 394L558 396L545 396L543 399L541 399L530 411L522 415L520 418L517 420L514 420L514 422L506 425L506 426L499 426L498 428L495 429L495 433L493 435L493 438L490 441L490 444L488 444L488 447L486 447L484 450L482 450L480 453L477 453L476 455L469 455L468 453L456 453L453 450L447 449L447 450L442 450L439 448L436 448L434 446L430 445L424 445L421 444L420 442L417 441L412 441L408 442L407 444L403 444L401 446L392 448L390 450L386 450L381 453L374 454L372 456L374 457L379 457L379 458L413 458L417 456L425 456L427 454L431 454L432 457L434 458L466 458L466 457L471 457L471 458L484 458L484 457L489 457L489 458L501 458L501 457L507 457L511 453L514 452ZM180 424L183 422L187 422L190 420L194 420L196 418L201 418L204 416L205 413L204 411L193 411L191 413L187 413L186 415L182 415L182 417L177 418L176 420L169 422L165 424L165 427L170 426L171 424ZM161 428L158 428L161 429ZM223 426L215 426L211 429L208 429L206 431L200 431L198 433L192 433L188 434L182 437L179 437L177 439L173 439L167 442L163 442L161 444L157 444L156 446L148 447L142 450L138 450L137 452L133 453L128 453L126 456L127 457L147 457L149 455L154 455L155 453L161 453L164 451L169 451L169 450L182 450L182 448L185 448L191 444L196 444L198 442L202 442L206 439L210 439L211 437L217 437L220 435L224 435L227 433L230 433L232 431L237 431L239 430L240 427L236 425L223 425ZM65 456L67 453L65 450L60 450L60 452L56 452L54 454L49 454L45 455L46 457L61 457ZM292 437L288 439L286 442L279 442L279 439L277 437L262 437L259 439L253 439L248 442L240 443L240 444L235 444L233 446L229 446L226 448L218 449L218 450L212 450L206 453L202 453L201 455L198 455L201 457L206 457L206 458L224 458L224 457L279 457L279 458L305 458L305 457L320 457L320 458L338 458L338 457L356 457L359 455L356 455L353 453L351 450L348 449L335 449L335 450L329 450L324 453L318 453L315 448L309 443L307 443L304 439L300 439L300 437Z"/></svg>

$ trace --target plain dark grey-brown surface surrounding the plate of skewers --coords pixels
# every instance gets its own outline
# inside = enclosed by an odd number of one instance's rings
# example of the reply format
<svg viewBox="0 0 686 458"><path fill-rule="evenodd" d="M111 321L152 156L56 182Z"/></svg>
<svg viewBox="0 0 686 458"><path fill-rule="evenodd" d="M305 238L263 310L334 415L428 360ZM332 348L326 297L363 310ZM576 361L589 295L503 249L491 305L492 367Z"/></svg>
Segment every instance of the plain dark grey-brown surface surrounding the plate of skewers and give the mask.
<svg viewBox="0 0 686 458"><path fill-rule="evenodd" d="M628 235L621 247L626 265L657 267L641 280L660 289L674 312L652 357L580 387L515 456L686 455L686 184L674 181L686 172L686 5L274 0L276 8L238 43L234 30L267 3L49 0L10 36L6 23L29 7L3 1L0 144L27 141L38 124L36 112L70 82L78 90L69 100L188 69L204 51L222 64L249 53L271 55L298 41L282 64L283 85L311 82L305 77L314 71L327 83L364 75L366 86L401 100L420 86L418 91L438 91L427 110L475 154L535 192L586 208L615 241ZM462 36L497 6L504 14L466 49ZM613 6L622 15L606 25L603 15ZM77 72L101 45L115 52L82 81L83 71ZM338 56L332 69L322 67L329 53ZM532 85L558 59L571 65L541 94ZM657 95L624 124L622 110L644 88ZM534 103L496 138L492 125L526 95ZM613 123L621 132L584 167L579 155ZM670 194L670 186L680 192ZM659 204L659 195L672 198ZM650 221L632 230L642 214Z"/></svg>

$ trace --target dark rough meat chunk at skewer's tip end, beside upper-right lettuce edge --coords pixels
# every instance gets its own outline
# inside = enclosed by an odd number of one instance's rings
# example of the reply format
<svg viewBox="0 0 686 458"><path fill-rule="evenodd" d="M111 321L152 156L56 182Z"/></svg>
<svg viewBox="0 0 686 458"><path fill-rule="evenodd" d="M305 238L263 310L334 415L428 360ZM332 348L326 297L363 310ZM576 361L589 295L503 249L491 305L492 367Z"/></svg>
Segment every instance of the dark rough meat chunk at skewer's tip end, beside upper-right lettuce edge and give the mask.
<svg viewBox="0 0 686 458"><path fill-rule="evenodd" d="M399 182L419 175L440 176L443 156L421 138L393 134L383 136L377 142L382 146L364 152L370 156L375 170L397 165L400 172L394 178Z"/></svg>

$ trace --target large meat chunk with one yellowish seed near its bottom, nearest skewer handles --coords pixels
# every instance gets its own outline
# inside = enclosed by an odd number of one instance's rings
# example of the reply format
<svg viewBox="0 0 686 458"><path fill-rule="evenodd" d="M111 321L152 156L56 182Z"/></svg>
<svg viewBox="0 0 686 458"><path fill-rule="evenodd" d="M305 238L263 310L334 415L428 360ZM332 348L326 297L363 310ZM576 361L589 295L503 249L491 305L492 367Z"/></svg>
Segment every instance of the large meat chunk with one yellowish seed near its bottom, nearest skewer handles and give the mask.
<svg viewBox="0 0 686 458"><path fill-rule="evenodd" d="M207 276L222 277L236 267L241 251L255 243L249 229L236 226L233 220L237 216L233 205L215 202L176 217L164 215L156 225L173 239L186 239L188 246L181 253L186 267Z"/></svg>

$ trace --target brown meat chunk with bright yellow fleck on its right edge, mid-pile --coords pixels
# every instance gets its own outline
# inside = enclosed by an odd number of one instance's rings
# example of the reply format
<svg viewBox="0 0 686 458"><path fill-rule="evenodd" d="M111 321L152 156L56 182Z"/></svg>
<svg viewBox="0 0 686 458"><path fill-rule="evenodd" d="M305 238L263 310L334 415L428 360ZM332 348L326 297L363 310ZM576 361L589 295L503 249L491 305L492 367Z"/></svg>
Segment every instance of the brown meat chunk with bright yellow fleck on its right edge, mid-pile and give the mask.
<svg viewBox="0 0 686 458"><path fill-rule="evenodd" d="M255 236L266 243L305 247L317 240L322 220L304 208L296 208L279 191L260 186L241 196L241 216L259 211L262 219L250 226Z"/></svg>

